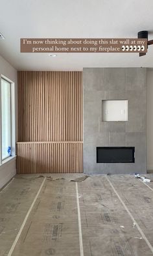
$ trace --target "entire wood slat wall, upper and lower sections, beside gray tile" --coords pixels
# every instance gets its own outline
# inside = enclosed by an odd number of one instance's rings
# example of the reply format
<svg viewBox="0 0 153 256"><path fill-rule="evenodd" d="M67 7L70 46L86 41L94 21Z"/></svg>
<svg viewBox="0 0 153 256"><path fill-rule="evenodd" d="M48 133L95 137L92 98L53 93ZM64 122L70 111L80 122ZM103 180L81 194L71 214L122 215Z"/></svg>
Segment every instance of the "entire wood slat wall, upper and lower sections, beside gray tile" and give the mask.
<svg viewBox="0 0 153 256"><path fill-rule="evenodd" d="M82 173L82 72L18 72L18 173Z"/></svg>

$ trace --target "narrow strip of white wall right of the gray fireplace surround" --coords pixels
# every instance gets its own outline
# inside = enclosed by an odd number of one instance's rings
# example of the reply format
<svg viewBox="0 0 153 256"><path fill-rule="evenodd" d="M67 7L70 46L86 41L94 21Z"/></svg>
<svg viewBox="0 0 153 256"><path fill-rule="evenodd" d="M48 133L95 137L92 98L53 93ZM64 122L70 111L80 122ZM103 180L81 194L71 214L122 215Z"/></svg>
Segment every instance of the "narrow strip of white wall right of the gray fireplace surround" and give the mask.
<svg viewBox="0 0 153 256"><path fill-rule="evenodd" d="M153 170L153 68L147 69L147 169Z"/></svg>

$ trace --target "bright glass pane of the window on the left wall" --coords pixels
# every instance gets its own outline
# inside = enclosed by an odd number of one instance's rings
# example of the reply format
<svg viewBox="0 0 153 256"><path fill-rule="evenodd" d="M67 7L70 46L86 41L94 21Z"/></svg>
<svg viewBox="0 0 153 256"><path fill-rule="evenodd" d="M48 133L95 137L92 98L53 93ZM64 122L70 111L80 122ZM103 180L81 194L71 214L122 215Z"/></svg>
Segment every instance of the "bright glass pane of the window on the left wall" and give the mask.
<svg viewBox="0 0 153 256"><path fill-rule="evenodd" d="M11 149L11 95L10 82L1 79L1 159L5 160L10 155ZM10 148L9 148L10 147Z"/></svg>

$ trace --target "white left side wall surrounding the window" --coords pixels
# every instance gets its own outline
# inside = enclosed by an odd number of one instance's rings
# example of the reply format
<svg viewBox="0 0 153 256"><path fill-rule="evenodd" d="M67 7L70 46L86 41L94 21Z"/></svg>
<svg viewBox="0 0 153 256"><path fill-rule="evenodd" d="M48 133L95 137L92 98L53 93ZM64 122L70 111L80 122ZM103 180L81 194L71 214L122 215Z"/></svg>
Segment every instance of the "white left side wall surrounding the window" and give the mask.
<svg viewBox="0 0 153 256"><path fill-rule="evenodd" d="M14 82L12 85L12 96L15 99L12 102L12 126L16 129L12 130L12 152L16 154L16 141L18 141L18 72L0 55L0 78L5 76ZM0 188L16 174L16 158L10 162L0 165Z"/></svg>

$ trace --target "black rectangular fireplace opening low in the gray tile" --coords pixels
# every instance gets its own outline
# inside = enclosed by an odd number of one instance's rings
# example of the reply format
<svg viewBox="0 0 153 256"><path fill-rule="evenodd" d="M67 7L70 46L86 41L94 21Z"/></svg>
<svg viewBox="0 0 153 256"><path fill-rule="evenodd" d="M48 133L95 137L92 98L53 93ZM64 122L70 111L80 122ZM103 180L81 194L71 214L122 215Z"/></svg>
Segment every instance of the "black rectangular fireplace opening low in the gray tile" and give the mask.
<svg viewBox="0 0 153 256"><path fill-rule="evenodd" d="M97 147L97 163L134 163L135 147Z"/></svg>

